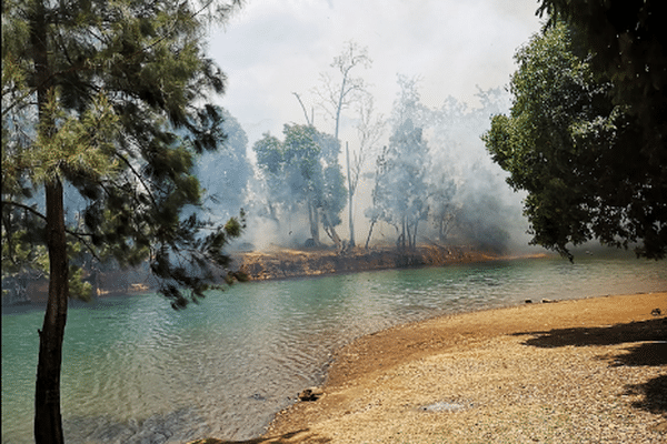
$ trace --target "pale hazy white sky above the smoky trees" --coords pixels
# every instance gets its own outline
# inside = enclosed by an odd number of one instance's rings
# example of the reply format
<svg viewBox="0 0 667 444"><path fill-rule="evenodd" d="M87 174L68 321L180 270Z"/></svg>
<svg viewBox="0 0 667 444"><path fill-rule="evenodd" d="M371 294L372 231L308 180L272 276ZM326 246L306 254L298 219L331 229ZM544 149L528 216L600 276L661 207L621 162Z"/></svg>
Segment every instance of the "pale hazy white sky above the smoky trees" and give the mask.
<svg viewBox="0 0 667 444"><path fill-rule="evenodd" d="M388 115L397 73L419 75L425 103L448 97L474 103L476 85L505 85L512 56L540 27L536 0L247 0L226 29L213 32L212 56L228 75L220 104L252 144L266 131L281 135L288 122L305 123L292 92L310 107L319 73L329 70L348 40L368 52L370 84ZM323 118L320 130L332 132Z"/></svg>

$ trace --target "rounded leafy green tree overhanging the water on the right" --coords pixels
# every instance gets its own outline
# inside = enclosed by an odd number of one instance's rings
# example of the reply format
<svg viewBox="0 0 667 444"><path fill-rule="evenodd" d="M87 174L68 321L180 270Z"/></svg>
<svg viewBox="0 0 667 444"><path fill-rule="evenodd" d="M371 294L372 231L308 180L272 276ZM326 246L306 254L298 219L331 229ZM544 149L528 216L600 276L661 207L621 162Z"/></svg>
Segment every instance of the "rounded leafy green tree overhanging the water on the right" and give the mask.
<svg viewBox="0 0 667 444"><path fill-rule="evenodd" d="M494 160L526 190L531 243L571 259L568 244L598 239L639 255L666 252L666 167L641 149L643 130L628 105L615 104L609 78L558 21L516 54L510 115L496 115L484 140Z"/></svg>

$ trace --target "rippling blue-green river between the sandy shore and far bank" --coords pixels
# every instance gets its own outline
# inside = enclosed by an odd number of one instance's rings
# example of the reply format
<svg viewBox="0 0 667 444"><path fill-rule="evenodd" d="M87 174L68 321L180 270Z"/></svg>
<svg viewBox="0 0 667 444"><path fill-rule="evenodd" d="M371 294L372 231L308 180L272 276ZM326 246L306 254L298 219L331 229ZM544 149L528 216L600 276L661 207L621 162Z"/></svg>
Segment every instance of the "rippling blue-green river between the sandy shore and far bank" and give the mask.
<svg viewBox="0 0 667 444"><path fill-rule="evenodd" d="M492 261L235 284L173 311L156 294L73 303L66 329L68 443L260 435L334 350L442 314L667 290L664 262L626 256ZM2 311L2 443L32 442L42 310Z"/></svg>

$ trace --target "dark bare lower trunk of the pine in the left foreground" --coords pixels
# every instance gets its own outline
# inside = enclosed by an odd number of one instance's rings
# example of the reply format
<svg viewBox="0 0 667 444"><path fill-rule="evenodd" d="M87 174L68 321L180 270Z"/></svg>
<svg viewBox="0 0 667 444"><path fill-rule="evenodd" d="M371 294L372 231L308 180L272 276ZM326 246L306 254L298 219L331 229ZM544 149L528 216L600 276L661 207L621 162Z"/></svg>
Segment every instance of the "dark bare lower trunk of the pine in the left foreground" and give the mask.
<svg viewBox="0 0 667 444"><path fill-rule="evenodd" d="M39 331L39 361L34 391L34 442L64 443L60 415L60 369L62 339L69 295L67 241L62 183L46 185L47 244L49 250L49 299L42 330Z"/></svg>

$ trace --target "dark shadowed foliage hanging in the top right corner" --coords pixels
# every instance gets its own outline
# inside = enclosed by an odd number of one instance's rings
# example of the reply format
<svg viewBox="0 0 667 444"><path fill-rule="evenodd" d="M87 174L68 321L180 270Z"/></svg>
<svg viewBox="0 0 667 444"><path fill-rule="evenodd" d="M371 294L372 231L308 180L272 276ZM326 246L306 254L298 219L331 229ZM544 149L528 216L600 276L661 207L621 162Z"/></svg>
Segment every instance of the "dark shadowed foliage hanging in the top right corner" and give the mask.
<svg viewBox="0 0 667 444"><path fill-rule="evenodd" d="M625 111L637 118L641 134L635 140L633 151L639 148L651 163L665 165L667 9L664 3L541 0L538 14L545 12L549 26L561 20L576 29L581 44L590 51L591 71L598 80L611 82L614 103L627 107Z"/></svg>

